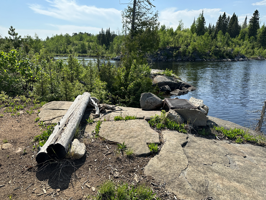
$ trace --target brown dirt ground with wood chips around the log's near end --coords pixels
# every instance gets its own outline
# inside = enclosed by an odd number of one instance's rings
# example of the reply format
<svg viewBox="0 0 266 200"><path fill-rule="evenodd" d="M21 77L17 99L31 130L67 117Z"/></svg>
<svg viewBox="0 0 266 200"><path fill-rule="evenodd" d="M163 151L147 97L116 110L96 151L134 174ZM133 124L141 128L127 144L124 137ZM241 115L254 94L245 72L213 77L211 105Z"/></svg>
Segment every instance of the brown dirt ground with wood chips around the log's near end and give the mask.
<svg viewBox="0 0 266 200"><path fill-rule="evenodd" d="M37 110L31 115L22 112L19 116L1 112L0 146L4 140L12 146L0 149L0 199L91 199L107 180L144 184L160 199L178 199L143 174L150 157L128 157L117 151L116 143L103 138L83 138L87 153L82 159L38 165L37 149L33 150L33 138L41 133L35 122Z"/></svg>

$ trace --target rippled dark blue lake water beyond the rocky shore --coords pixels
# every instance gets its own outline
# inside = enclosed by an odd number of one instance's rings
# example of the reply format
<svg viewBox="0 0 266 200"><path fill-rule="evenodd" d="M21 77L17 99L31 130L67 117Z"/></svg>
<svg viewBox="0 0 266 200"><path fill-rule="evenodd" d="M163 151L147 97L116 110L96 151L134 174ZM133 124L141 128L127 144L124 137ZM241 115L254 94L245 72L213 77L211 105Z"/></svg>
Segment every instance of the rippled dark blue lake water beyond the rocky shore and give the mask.
<svg viewBox="0 0 266 200"><path fill-rule="evenodd" d="M79 60L82 58L78 57ZM111 63L119 65L116 60L111 60ZM255 125L252 119L259 118L258 114L252 114L250 111L261 110L266 99L266 60L153 63L153 69L166 70L166 68L173 70L183 81L197 88L180 98L202 99L209 107L210 116L245 127ZM265 132L265 127L262 130Z"/></svg>

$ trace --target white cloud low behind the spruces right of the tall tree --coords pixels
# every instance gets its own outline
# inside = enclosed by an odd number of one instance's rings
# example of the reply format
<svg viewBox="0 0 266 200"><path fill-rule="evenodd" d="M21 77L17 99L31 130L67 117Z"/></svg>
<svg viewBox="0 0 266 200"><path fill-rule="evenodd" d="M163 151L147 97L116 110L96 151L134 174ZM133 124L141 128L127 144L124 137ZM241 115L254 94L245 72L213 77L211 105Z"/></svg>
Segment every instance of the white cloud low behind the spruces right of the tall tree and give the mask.
<svg viewBox="0 0 266 200"><path fill-rule="evenodd" d="M193 23L194 17L197 20L199 14L202 13L202 9L199 10L177 10L175 7L164 9L159 14L159 21L160 25L165 24L166 26L173 27L175 30L178 26L178 21L182 19L184 26L190 28ZM205 17L206 25L208 26L209 23L215 25L219 15L223 15L220 8L204 8L203 15ZM228 15L228 13L226 13Z"/></svg>

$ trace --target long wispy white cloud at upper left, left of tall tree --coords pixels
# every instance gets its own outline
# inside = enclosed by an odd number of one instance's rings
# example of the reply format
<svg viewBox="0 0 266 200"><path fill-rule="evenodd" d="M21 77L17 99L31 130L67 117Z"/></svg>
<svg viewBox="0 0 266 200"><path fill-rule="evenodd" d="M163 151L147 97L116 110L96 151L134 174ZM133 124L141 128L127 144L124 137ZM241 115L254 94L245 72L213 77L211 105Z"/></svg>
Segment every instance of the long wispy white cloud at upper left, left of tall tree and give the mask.
<svg viewBox="0 0 266 200"><path fill-rule="evenodd" d="M121 21L121 11L115 8L97 8L95 6L78 5L75 0L46 0L49 7L39 4L30 4L35 13L47 15L69 22L84 22L101 27L108 23L110 26Z"/></svg>

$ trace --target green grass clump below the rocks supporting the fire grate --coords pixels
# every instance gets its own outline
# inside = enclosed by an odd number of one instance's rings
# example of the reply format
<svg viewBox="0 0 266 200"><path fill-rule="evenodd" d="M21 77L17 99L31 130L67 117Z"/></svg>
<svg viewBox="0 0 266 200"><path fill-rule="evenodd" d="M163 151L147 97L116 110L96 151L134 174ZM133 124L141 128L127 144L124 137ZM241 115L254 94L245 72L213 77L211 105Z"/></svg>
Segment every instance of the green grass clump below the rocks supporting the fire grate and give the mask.
<svg viewBox="0 0 266 200"><path fill-rule="evenodd" d="M156 129L170 129L170 130L176 130L181 133L187 133L187 130L185 128L186 124L179 124L175 121L170 121L166 117L166 111L161 111L161 115L155 115L150 117L150 121L148 122L151 127L154 127Z"/></svg>

